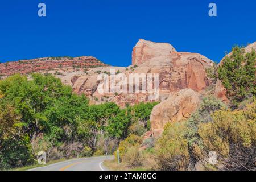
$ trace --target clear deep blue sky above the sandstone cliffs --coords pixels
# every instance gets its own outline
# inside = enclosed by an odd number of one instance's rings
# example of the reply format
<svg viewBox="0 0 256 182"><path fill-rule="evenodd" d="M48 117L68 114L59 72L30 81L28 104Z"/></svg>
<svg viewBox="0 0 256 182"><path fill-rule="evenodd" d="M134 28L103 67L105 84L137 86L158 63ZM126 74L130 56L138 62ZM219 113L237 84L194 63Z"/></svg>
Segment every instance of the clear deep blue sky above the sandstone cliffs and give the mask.
<svg viewBox="0 0 256 182"><path fill-rule="evenodd" d="M210 2L217 18L208 16ZM254 0L2 0L0 61L92 55L127 66L139 38L220 61L234 44L256 41L255 9Z"/></svg>

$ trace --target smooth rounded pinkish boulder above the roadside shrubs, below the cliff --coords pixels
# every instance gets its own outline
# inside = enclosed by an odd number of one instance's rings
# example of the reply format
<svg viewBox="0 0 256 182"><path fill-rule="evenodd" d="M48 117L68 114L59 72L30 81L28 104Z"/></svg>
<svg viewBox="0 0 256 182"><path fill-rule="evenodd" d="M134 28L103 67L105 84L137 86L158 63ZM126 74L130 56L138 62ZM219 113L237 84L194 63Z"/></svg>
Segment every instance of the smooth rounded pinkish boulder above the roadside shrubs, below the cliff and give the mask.
<svg viewBox="0 0 256 182"><path fill-rule="evenodd" d="M200 93L192 89L183 89L156 105L150 115L151 131L154 136L163 133L168 122L187 119L200 104Z"/></svg>

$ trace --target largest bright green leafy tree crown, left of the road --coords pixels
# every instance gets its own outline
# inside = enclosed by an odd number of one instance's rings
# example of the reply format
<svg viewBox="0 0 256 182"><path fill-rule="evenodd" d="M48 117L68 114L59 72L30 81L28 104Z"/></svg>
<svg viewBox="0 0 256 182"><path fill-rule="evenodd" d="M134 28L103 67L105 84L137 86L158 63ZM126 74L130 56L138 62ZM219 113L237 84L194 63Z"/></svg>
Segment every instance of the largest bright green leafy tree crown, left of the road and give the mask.
<svg viewBox="0 0 256 182"><path fill-rule="evenodd" d="M31 139L40 132L51 132L54 126L64 130L64 126L74 124L77 115L82 117L88 107L84 96L72 94L72 88L51 75L35 73L31 80L14 75L0 82L0 90L5 94L1 102L15 107Z"/></svg>

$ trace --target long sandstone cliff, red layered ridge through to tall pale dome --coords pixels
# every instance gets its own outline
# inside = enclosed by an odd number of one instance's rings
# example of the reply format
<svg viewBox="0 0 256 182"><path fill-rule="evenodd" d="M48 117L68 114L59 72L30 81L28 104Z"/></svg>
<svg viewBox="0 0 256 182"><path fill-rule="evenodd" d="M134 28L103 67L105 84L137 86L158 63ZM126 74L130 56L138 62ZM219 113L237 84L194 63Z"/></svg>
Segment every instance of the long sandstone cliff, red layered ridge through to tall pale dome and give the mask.
<svg viewBox="0 0 256 182"><path fill-rule="evenodd" d="M74 92L88 96L92 104L116 102L121 107L139 102L164 101L170 94L187 88L201 92L211 84L206 77L205 68L213 64L212 60L198 53L177 52L168 43L154 43L140 39L133 48L132 64L127 68L109 67L91 56L48 57L2 63L0 74L8 76L17 72L53 73L61 78L64 84L71 85ZM97 88L100 84L100 81L97 81L98 74L109 74L110 69L123 73L128 81L131 73L138 73L138 75L152 73L153 77L157 73L159 75L159 97L152 99L148 92L141 92L142 84L147 84L147 81L152 81L154 86L157 85L154 78L148 77L137 85L139 93L98 93ZM118 82L116 80L115 84ZM129 85L127 85L127 91L128 88Z"/></svg>

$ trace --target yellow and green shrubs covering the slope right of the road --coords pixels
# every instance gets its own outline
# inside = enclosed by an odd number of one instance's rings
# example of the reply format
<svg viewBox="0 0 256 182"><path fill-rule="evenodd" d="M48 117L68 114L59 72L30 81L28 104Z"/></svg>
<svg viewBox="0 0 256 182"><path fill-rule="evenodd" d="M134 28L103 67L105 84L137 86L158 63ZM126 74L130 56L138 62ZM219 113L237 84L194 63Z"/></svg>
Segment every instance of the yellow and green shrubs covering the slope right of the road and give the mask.
<svg viewBox="0 0 256 182"><path fill-rule="evenodd" d="M229 102L224 104L211 93L185 121L167 123L158 137L130 134L119 144L121 163L105 162L111 169L125 170L252 170L256 158L255 52L245 54L234 47L217 68L207 74L220 79ZM217 163L209 163L215 151Z"/></svg>

